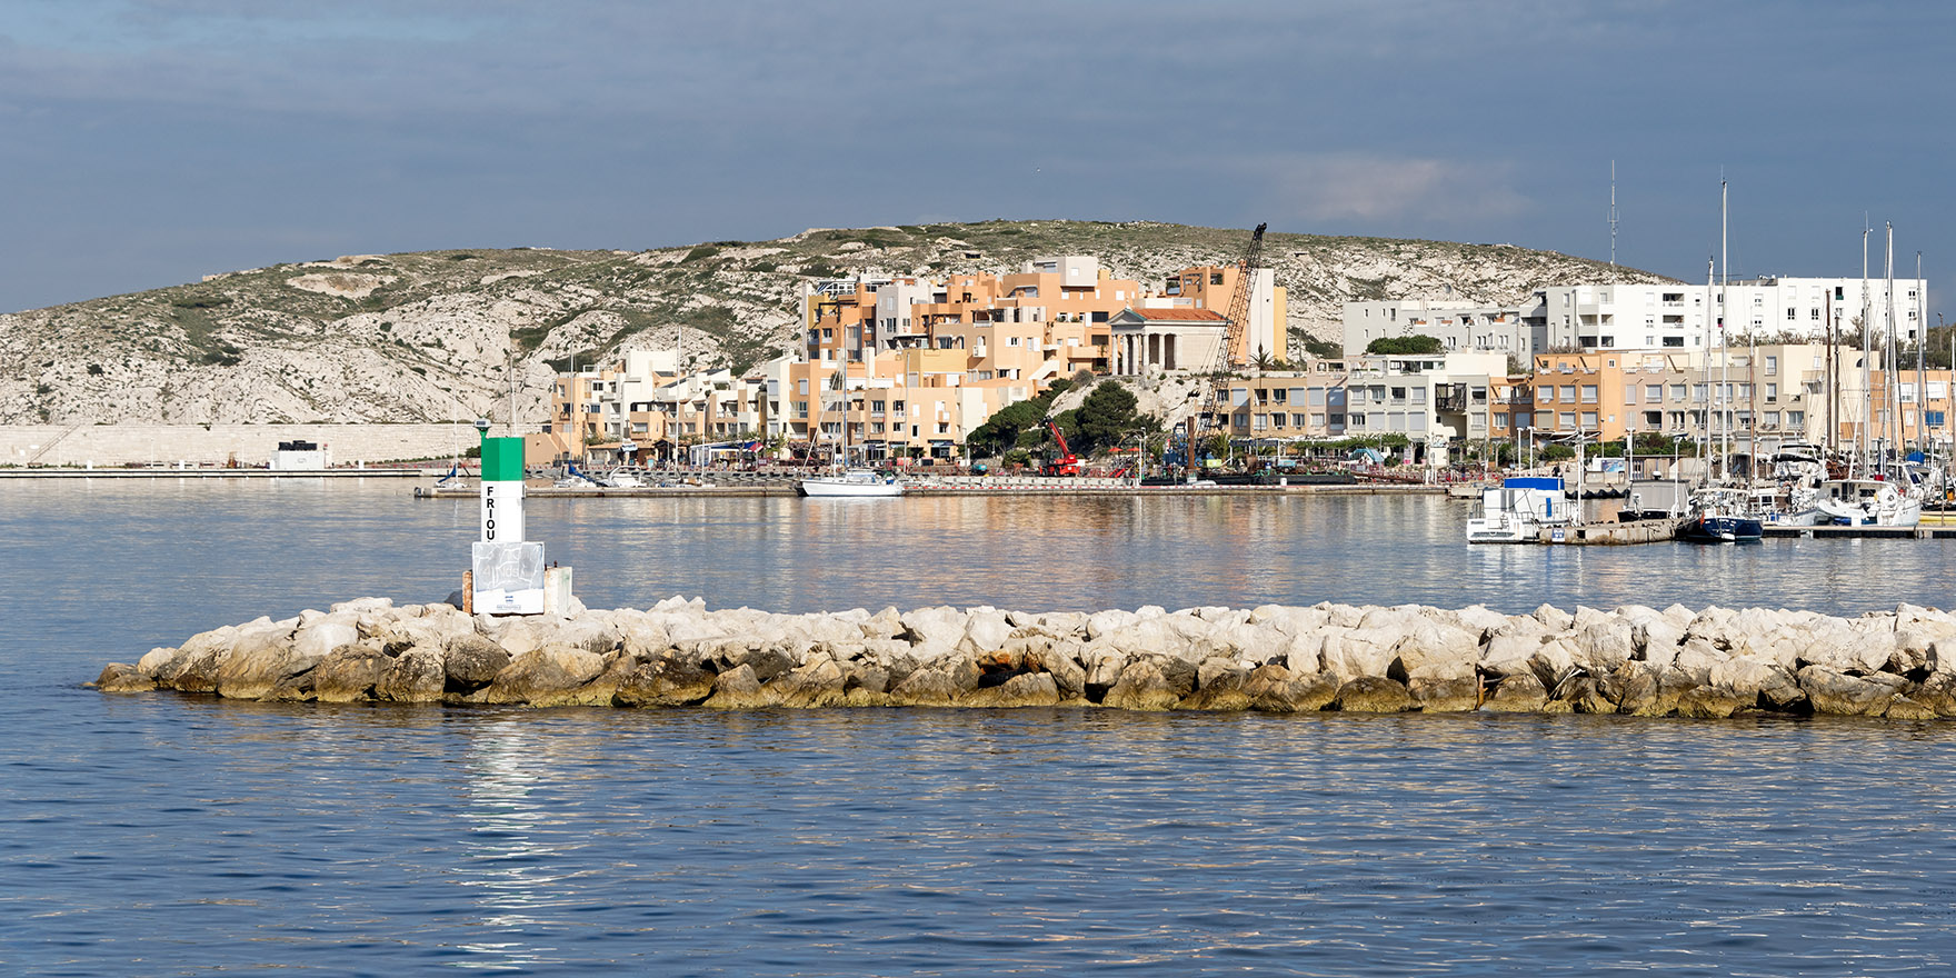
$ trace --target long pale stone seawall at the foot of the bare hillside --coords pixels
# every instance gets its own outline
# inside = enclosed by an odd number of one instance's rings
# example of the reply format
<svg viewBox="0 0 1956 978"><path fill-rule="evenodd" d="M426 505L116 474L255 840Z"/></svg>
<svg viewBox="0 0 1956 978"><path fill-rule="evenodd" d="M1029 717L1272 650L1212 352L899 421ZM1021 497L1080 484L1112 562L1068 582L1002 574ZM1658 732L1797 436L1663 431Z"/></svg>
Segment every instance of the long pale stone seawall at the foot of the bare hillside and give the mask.
<svg viewBox="0 0 1956 978"><path fill-rule="evenodd" d="M469 424L0 424L0 466L264 466L278 442L317 442L334 464L446 458L477 442ZM45 450L45 452L43 452Z"/></svg>

